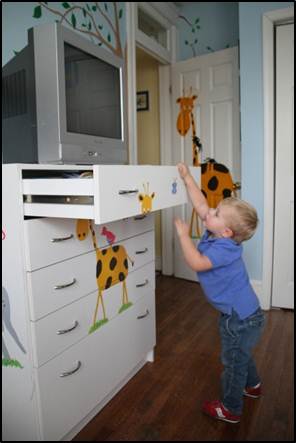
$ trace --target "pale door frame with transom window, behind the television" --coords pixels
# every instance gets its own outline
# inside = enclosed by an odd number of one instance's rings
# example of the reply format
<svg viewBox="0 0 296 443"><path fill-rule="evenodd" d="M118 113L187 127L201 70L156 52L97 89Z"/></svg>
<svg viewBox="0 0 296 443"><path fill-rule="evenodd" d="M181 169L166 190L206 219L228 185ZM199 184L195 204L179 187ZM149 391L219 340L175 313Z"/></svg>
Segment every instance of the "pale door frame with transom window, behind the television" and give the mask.
<svg viewBox="0 0 296 443"><path fill-rule="evenodd" d="M137 104L136 104L136 46L141 47L163 64L159 67L159 107L160 107L160 161L162 165L172 165L171 152L171 97L170 97L170 66L177 59L178 9L173 3L149 2L150 10L154 8L155 18L162 15L170 23L170 63L154 52L154 45L147 39L137 40L137 3L126 2L126 44L127 44L127 88L128 88L128 144L129 163L137 164ZM162 210L162 272L173 274L173 212L172 208Z"/></svg>

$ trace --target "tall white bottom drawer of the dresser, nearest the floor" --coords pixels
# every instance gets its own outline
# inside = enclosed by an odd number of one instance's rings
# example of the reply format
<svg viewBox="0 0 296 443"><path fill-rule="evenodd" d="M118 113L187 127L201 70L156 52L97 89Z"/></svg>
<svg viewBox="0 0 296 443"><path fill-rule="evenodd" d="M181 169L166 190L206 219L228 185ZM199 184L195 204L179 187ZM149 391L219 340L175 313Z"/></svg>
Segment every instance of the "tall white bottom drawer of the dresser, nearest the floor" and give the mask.
<svg viewBox="0 0 296 443"><path fill-rule="evenodd" d="M148 313L147 313L148 310ZM138 319L137 317L143 317ZM96 334L36 369L43 438L61 439L142 361L155 345L154 294ZM62 373L80 368L72 375Z"/></svg>

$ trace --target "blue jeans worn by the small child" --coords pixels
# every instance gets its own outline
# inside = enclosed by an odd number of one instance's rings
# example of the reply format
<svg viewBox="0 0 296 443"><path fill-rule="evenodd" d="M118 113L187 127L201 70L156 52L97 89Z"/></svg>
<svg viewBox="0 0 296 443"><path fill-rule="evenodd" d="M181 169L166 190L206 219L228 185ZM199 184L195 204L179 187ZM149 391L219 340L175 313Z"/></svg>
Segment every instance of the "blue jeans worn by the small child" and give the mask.
<svg viewBox="0 0 296 443"><path fill-rule="evenodd" d="M244 320L240 320L235 311L220 317L221 360L224 365L222 403L234 415L242 413L244 388L260 383L251 353L264 323L261 308Z"/></svg>

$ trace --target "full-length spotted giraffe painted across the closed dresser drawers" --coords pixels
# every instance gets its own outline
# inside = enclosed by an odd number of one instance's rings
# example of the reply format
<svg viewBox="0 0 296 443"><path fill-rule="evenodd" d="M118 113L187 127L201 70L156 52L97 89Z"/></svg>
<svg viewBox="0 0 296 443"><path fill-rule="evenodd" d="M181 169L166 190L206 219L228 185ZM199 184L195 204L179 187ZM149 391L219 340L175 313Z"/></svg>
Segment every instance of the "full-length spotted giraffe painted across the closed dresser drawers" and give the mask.
<svg viewBox="0 0 296 443"><path fill-rule="evenodd" d="M98 286L97 303L92 325L89 329L89 333L92 333L108 322L103 300L104 290L122 283L122 305L118 312L121 313L132 306L132 303L128 300L125 280L128 276L128 260L131 262L132 266L134 265L134 262L128 256L122 245L111 245L102 249L98 248L96 233L92 221L77 220L76 235L79 240L85 240L89 231L91 232L93 245L96 251L96 280ZM100 304L102 305L103 319L97 321Z"/></svg>

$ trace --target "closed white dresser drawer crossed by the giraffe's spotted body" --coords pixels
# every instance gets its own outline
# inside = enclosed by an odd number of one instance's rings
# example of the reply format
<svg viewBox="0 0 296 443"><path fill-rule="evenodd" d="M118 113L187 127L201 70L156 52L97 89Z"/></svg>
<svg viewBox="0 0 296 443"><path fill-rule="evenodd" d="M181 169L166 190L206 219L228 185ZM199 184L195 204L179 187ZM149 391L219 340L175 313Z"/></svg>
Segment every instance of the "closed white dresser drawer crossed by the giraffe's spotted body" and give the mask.
<svg viewBox="0 0 296 443"><path fill-rule="evenodd" d="M132 272L154 260L154 231L124 240L119 245L125 248L128 272ZM118 246L113 245L114 248ZM107 251L105 254L104 251ZM27 273L31 320L38 320L50 312L89 294L97 289L97 263L100 261L101 284L104 288L120 281L119 273L126 270L115 267L109 272L111 260L116 259L108 246L97 253L91 251L70 260ZM111 281L109 280L111 278ZM103 282L102 280L105 279Z"/></svg>

